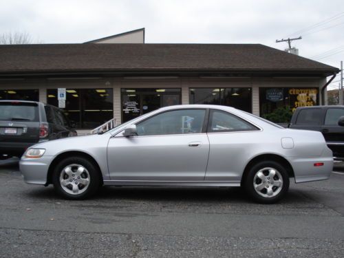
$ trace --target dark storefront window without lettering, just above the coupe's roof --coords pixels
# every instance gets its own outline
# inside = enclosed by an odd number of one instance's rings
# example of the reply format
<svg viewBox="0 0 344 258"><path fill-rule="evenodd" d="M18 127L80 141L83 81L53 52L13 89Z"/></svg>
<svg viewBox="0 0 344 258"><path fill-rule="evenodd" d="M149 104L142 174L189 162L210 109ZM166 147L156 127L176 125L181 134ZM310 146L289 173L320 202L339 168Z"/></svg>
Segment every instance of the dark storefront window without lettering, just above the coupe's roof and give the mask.
<svg viewBox="0 0 344 258"><path fill-rule="evenodd" d="M225 105L252 112L251 88L192 88L190 104Z"/></svg>

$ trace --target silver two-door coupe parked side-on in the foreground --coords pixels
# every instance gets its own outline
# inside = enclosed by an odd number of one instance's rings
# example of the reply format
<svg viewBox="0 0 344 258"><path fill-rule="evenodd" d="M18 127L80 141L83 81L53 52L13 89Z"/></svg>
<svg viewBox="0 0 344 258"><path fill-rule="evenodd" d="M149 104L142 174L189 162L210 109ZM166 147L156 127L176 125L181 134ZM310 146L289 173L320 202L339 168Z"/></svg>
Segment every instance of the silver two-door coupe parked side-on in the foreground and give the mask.
<svg viewBox="0 0 344 258"><path fill-rule="evenodd" d="M164 107L105 133L36 144L20 161L25 182L72 200L103 185L241 186L273 203L290 178L326 180L332 167L321 133L217 105Z"/></svg>

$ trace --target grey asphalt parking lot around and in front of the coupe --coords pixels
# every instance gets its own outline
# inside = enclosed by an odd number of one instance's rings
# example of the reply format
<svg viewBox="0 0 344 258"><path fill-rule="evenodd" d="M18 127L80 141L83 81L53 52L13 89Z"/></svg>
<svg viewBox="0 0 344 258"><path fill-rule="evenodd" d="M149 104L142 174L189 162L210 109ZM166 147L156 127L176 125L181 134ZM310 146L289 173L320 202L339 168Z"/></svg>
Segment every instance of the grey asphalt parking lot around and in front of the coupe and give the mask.
<svg viewBox="0 0 344 258"><path fill-rule="evenodd" d="M344 169L279 204L238 188L103 187L67 201L0 161L0 257L344 257Z"/></svg>

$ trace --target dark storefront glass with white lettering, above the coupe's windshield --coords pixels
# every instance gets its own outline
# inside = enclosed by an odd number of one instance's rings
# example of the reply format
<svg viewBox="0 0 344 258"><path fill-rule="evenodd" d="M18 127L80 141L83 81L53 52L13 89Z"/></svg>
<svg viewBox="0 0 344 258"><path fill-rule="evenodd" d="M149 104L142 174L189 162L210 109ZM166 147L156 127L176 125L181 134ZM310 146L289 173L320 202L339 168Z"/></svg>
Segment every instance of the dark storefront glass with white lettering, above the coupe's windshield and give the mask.
<svg viewBox="0 0 344 258"><path fill-rule="evenodd" d="M171 105L180 105L181 89L121 89L122 122Z"/></svg>

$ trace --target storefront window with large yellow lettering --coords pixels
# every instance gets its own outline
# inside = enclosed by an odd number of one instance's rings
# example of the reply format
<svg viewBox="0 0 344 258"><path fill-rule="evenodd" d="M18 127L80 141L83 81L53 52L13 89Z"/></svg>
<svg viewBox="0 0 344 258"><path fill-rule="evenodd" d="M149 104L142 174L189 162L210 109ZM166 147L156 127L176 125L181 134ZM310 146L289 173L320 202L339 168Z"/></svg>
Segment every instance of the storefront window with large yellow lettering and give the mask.
<svg viewBox="0 0 344 258"><path fill-rule="evenodd" d="M319 105L319 89L316 88L259 88L260 116L270 114L279 107Z"/></svg>

